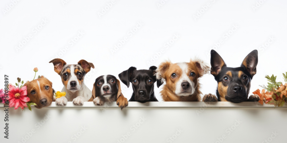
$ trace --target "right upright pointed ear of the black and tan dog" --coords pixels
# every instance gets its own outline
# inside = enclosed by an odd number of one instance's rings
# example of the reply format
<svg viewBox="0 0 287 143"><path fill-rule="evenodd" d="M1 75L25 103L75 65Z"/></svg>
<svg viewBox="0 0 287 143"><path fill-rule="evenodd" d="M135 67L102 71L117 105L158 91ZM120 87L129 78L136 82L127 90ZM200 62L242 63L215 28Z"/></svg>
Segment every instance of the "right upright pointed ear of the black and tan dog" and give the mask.
<svg viewBox="0 0 287 143"><path fill-rule="evenodd" d="M256 74L256 66L258 63L258 51L253 50L243 60L241 67L245 67L249 74L253 77Z"/></svg>

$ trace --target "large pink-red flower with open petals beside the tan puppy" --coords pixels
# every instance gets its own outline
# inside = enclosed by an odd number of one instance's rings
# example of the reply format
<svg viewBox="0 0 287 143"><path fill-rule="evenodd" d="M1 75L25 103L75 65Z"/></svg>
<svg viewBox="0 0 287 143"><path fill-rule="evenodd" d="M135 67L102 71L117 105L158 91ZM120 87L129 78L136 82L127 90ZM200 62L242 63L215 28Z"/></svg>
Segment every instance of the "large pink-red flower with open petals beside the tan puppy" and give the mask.
<svg viewBox="0 0 287 143"><path fill-rule="evenodd" d="M30 101L30 98L27 97L27 86L23 86L21 89L18 87L15 88L12 85L9 85L9 92L8 92L8 100L9 100L9 107L14 107L14 109L18 109L21 107L27 107L26 102Z"/></svg>

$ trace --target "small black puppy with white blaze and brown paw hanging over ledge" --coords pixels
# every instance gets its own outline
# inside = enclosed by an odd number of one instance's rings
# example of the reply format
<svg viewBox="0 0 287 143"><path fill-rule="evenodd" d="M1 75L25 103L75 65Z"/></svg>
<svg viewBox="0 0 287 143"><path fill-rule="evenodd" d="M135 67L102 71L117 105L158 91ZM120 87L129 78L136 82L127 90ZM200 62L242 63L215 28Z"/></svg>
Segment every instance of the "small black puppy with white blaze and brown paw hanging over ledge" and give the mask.
<svg viewBox="0 0 287 143"><path fill-rule="evenodd" d="M93 101L96 105L117 101L117 105L119 105L121 109L128 105L127 98L125 98L121 92L120 81L112 75L104 75L96 78L92 90L92 97L89 101Z"/></svg>

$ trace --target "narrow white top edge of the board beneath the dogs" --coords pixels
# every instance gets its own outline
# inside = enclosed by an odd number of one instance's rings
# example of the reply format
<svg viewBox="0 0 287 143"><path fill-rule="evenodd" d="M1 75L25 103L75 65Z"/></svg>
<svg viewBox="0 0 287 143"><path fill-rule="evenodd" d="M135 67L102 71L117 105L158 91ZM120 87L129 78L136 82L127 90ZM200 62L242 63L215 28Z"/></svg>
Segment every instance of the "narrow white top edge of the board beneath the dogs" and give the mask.
<svg viewBox="0 0 287 143"><path fill-rule="evenodd" d="M0 104L0 107L3 107L3 104ZM31 106L32 107L32 106ZM116 102L112 102L110 104L105 103L102 106L95 105L93 102L84 102L83 106L74 105L73 102L68 102L66 106L58 106L55 102L52 102L51 106L47 108L83 108L83 107L91 107L91 108L102 108L102 107L114 107L119 108ZM129 102L129 105L126 108L131 107L189 107L189 108L200 108L200 107L269 107L274 108L274 105L270 104L259 104L259 102L241 102L241 103L232 103L232 102ZM287 107L286 103L283 107ZM281 108L281 107L276 107Z"/></svg>

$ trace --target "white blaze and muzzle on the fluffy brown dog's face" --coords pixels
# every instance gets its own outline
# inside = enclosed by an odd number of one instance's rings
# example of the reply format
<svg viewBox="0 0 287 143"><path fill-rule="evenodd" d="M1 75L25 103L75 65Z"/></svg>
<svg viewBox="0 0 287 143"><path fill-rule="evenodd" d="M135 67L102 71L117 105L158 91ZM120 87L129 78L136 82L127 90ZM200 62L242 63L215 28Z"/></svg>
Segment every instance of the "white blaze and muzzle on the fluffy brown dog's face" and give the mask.
<svg viewBox="0 0 287 143"><path fill-rule="evenodd" d="M193 81L191 81L190 80L190 78L189 78L189 69L188 69L188 65L187 65L187 63L177 63L177 65L179 66L179 68L181 69L181 72L182 72L182 74L181 74L181 76L180 77L178 77L179 78L179 80L177 81L177 83L175 84L175 86L176 86L176 89L175 89L175 94L177 94L177 95L179 95L179 96L188 96L188 95L191 95L191 94L193 94L193 92L195 91L195 89L194 89L194 82ZM177 75L177 76L179 76L179 75ZM187 91L186 92L188 92L188 93L181 93L181 92L183 92L184 90L183 90L183 88L182 88L182 86L181 86L181 84L183 83L183 82L188 82L189 83L189 85L190 85L190 87L187 89Z"/></svg>

